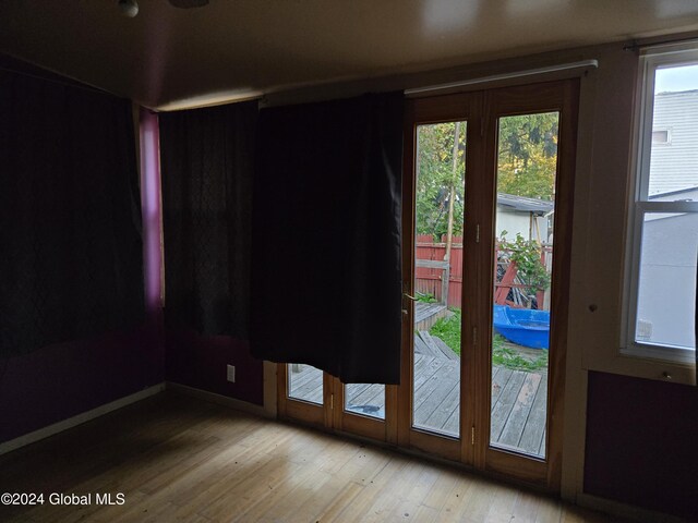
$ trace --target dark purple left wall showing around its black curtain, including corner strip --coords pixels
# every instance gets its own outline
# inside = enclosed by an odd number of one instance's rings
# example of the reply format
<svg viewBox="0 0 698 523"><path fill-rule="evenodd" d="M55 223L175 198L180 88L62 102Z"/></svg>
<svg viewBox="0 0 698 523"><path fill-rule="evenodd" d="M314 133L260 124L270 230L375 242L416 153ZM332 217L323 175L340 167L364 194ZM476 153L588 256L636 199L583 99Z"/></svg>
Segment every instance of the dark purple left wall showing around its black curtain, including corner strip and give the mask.
<svg viewBox="0 0 698 523"><path fill-rule="evenodd" d="M0 65L16 71L28 68L2 57ZM29 72L61 83L64 81L40 70L31 69ZM157 182L154 178L156 172L146 172L143 167L144 324L131 332L104 333L92 339L51 344L21 356L0 358L0 442L164 381L165 344L159 307L160 231L158 220L152 218L158 216L159 193L153 183ZM153 246L155 248L151 248Z"/></svg>

